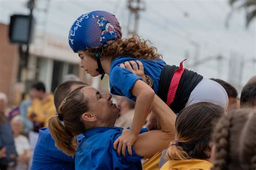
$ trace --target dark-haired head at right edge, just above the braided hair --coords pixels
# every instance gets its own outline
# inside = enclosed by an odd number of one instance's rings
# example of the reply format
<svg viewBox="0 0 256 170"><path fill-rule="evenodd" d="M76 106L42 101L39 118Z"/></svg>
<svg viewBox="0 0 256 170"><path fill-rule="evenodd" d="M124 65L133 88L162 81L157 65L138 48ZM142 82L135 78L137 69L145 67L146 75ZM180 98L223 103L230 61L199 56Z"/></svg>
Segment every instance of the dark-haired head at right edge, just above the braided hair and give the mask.
<svg viewBox="0 0 256 170"><path fill-rule="evenodd" d="M256 82L247 83L242 88L240 105L241 108L256 108Z"/></svg>

